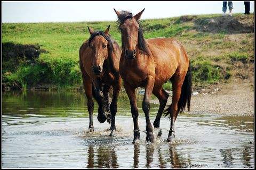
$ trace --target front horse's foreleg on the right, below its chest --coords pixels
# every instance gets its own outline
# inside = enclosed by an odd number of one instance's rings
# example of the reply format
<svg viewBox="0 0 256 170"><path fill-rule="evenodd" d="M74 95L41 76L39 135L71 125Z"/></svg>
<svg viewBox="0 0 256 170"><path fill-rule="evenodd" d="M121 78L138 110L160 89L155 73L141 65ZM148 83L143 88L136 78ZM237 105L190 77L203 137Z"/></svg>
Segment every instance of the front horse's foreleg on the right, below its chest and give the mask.
<svg viewBox="0 0 256 170"><path fill-rule="evenodd" d="M146 117L146 131L147 131L147 142L154 142L154 134L153 134L153 127L150 123L149 119L149 109L150 109L150 97L154 88L155 79L152 76L147 77L147 84L145 87L145 95L142 101L142 110L145 113Z"/></svg>

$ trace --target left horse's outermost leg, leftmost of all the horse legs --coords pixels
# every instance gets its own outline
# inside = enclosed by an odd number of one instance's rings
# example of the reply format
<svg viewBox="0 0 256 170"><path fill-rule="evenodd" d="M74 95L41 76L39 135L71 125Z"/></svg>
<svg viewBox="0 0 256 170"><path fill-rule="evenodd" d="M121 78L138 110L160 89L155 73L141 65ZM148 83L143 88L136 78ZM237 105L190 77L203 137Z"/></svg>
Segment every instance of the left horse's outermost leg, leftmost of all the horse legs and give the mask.
<svg viewBox="0 0 256 170"><path fill-rule="evenodd" d="M90 132L93 132L94 127L93 127L93 123L92 123L92 115L93 115L94 103L93 103L93 99L92 99L92 80L86 74L83 74L82 77L83 77L83 83L84 83L84 91L85 91L85 95L87 97L87 109L88 109L89 117L90 117L89 130L90 130Z"/></svg>

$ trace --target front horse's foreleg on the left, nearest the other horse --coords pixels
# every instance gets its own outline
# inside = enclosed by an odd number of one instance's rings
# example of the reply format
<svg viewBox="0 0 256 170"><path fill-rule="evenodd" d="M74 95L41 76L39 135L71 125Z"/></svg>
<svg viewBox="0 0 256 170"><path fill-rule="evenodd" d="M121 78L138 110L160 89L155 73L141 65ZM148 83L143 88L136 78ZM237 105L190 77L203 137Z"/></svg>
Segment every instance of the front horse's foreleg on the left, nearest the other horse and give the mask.
<svg viewBox="0 0 256 170"><path fill-rule="evenodd" d="M129 97L131 104L131 113L133 118L133 141L132 143L138 143L140 141L140 130L138 124L139 111L136 102L135 88L131 87L127 82L124 81L124 88L127 96Z"/></svg>

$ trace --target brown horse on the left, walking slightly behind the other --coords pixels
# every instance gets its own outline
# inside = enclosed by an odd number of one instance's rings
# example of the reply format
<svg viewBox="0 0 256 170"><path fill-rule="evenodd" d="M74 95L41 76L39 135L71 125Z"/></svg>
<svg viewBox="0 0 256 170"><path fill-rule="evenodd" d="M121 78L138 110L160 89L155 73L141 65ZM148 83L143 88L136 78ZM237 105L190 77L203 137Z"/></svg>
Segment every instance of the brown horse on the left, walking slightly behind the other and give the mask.
<svg viewBox="0 0 256 170"><path fill-rule="evenodd" d="M121 89L119 60L121 49L115 40L110 38L110 25L103 31L93 31L88 27L91 37L79 49L79 64L82 71L84 91L87 97L87 107L90 115L89 130L94 131L92 114L94 97L98 104L98 121L109 120L111 113L110 136L115 133L115 116L117 112L117 97ZM109 90L113 87L113 97L110 104Z"/></svg>

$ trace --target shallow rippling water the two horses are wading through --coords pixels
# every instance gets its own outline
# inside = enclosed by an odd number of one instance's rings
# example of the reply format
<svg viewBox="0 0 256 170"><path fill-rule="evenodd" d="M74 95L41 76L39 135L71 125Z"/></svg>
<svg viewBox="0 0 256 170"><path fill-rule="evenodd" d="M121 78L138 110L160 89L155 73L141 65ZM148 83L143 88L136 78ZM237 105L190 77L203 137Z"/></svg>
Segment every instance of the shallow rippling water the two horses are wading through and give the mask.
<svg viewBox="0 0 256 170"><path fill-rule="evenodd" d="M153 123L158 105L150 106ZM140 144L133 145L133 121L125 94L118 101L116 137L108 136L107 122L98 122L96 103L95 131L87 133L86 107L79 93L4 94L2 167L254 168L253 117L181 114L171 144L166 142L170 122L162 117L163 134L156 143L147 144L141 132ZM141 100L138 107L143 131L146 121Z"/></svg>

